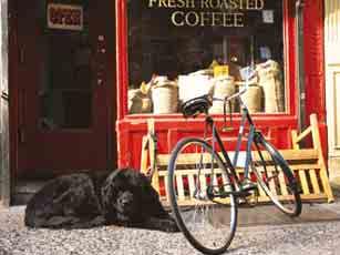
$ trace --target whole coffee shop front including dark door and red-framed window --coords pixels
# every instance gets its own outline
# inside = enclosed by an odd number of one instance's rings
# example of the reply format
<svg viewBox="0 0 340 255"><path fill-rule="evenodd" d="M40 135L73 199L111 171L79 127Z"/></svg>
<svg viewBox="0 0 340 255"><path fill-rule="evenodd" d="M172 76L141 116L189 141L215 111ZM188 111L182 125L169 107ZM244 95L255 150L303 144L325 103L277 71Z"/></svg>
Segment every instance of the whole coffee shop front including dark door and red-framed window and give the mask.
<svg viewBox="0 0 340 255"><path fill-rule="evenodd" d="M204 130L203 118L182 116L181 103L203 92L237 91L249 65L259 75L248 106L266 136L289 147L299 115L307 125L317 113L326 151L323 1L297 7L302 2L2 1L0 195L9 198L9 184L20 177L138 169L150 119L158 152L171 152L181 137ZM230 110L237 126L238 105ZM220 105L212 114L223 126ZM235 134L224 135L231 150Z"/></svg>

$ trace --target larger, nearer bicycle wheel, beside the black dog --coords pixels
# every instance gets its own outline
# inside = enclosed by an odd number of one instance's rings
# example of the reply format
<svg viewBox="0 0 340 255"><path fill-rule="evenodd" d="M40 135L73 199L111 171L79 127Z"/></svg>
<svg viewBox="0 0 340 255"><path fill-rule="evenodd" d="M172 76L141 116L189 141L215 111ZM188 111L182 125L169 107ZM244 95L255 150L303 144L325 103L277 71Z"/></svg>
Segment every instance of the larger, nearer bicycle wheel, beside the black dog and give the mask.
<svg viewBox="0 0 340 255"><path fill-rule="evenodd" d="M179 230L205 254L221 254L231 243L237 204L224 163L200 139L184 139L172 152L168 192Z"/></svg>

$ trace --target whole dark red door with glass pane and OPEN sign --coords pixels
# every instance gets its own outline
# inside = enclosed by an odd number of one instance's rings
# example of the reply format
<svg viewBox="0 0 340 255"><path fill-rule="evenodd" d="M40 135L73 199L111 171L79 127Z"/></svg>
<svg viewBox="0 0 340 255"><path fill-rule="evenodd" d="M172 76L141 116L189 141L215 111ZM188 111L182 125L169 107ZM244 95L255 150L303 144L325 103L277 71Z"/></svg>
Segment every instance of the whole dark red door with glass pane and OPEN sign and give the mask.
<svg viewBox="0 0 340 255"><path fill-rule="evenodd" d="M107 47L114 29L107 31L114 28L114 9L109 2L17 1L20 175L112 164L114 58Z"/></svg>

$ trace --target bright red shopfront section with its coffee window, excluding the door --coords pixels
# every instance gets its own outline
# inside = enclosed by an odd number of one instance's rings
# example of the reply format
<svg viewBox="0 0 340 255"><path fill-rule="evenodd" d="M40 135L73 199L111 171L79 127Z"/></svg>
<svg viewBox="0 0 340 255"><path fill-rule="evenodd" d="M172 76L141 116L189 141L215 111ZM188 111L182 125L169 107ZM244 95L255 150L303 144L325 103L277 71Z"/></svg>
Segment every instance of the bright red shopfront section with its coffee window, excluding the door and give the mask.
<svg viewBox="0 0 340 255"><path fill-rule="evenodd" d="M154 119L158 152L168 153L183 136L203 133L203 118L184 119L181 103L199 93L226 95L239 89L247 67L257 85L246 94L257 126L278 147L290 147L298 129L317 113L326 142L321 0L303 6L305 90L297 74L297 6L280 0L117 1L119 165L138 167L146 121ZM215 94L216 95L216 94ZM239 109L231 106L233 126ZM223 126L223 110L212 114ZM228 147L234 133L225 133ZM324 144L326 145L326 144ZM326 146L324 146L326 149Z"/></svg>

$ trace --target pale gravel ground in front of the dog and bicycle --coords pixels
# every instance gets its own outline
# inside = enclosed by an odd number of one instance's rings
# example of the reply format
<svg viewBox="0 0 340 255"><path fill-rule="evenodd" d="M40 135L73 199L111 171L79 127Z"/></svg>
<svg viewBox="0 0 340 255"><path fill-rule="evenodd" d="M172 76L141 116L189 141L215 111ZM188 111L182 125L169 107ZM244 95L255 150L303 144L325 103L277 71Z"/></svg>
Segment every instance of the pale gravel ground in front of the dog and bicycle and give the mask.
<svg viewBox="0 0 340 255"><path fill-rule="evenodd" d="M182 233L124 228L28 230L23 206L0 210L0 255L194 255ZM340 222L239 227L228 254L340 254Z"/></svg>

